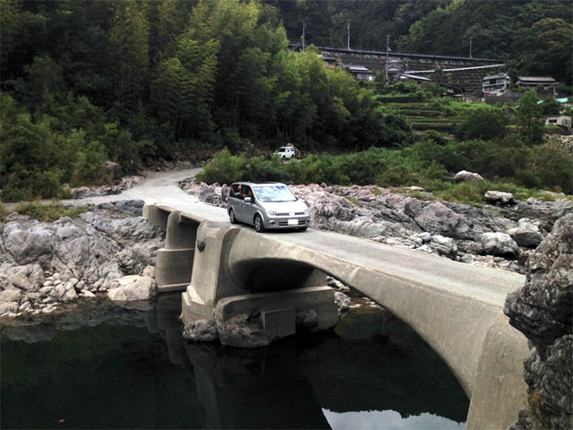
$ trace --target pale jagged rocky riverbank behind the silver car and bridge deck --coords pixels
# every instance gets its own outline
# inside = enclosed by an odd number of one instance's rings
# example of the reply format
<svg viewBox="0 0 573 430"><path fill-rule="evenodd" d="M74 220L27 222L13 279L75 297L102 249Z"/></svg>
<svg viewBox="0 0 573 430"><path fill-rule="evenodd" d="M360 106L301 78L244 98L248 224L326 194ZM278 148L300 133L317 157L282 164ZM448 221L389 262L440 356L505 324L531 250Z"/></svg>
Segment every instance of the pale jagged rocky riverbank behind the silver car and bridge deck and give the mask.
<svg viewBox="0 0 573 430"><path fill-rule="evenodd" d="M182 184L184 191L226 207L227 185ZM517 201L490 191L482 207L421 200L377 186L294 185L311 210L311 227L441 255L459 262L525 273L527 257L561 216L567 199Z"/></svg>

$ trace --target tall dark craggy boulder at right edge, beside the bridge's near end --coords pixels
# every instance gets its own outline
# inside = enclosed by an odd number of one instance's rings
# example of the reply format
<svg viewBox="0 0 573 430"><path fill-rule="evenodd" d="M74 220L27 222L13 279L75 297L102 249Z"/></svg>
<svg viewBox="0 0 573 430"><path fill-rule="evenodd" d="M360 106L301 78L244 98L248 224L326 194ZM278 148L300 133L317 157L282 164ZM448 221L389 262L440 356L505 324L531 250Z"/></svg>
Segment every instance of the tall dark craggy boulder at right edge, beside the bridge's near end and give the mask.
<svg viewBox="0 0 573 430"><path fill-rule="evenodd" d="M526 262L526 284L503 312L534 348L525 361L529 409L513 428L573 428L573 213Z"/></svg>

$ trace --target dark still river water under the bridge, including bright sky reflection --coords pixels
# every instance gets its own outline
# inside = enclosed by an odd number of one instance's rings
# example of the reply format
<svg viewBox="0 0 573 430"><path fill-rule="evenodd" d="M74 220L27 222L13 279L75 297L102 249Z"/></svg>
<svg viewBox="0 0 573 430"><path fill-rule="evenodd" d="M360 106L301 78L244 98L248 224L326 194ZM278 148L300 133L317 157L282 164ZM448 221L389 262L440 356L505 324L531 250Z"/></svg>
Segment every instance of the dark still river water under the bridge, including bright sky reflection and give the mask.
<svg viewBox="0 0 573 430"><path fill-rule="evenodd" d="M76 316L4 327L2 422L51 428L72 416L58 426L464 426L468 400L453 375L415 332L380 310L353 311L336 332L244 349L184 342L180 309L180 295L162 295L149 311L104 302ZM5 377L4 369L19 376ZM49 408L30 401L38 392L55 397Z"/></svg>

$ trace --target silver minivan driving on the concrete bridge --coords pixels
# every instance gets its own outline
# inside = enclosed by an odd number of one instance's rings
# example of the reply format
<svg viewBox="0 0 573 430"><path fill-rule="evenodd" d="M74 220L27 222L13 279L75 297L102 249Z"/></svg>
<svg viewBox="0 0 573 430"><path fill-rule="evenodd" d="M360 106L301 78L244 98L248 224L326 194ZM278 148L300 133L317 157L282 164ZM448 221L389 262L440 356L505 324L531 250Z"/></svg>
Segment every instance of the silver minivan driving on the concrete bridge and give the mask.
<svg viewBox="0 0 573 430"><path fill-rule="evenodd" d="M227 213L233 224L251 224L259 233L267 228L305 230L311 222L306 204L278 182L235 182L229 191Z"/></svg>

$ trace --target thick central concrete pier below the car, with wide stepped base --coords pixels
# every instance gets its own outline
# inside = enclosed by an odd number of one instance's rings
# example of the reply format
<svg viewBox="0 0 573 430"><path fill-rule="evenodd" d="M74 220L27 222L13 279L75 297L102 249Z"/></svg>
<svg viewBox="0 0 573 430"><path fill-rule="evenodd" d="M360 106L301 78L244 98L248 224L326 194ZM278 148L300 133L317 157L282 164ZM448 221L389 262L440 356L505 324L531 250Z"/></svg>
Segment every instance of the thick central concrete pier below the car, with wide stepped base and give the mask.
<svg viewBox="0 0 573 430"><path fill-rule="evenodd" d="M233 265L234 255L249 255L245 247L257 247L259 239L261 235L246 228L201 224L192 281L182 295L184 324L211 318L227 323L246 314L272 340L294 334L299 311L314 311L319 329L338 323L334 290L326 286L323 272L273 260L270 254L269 259L247 258L245 266Z"/></svg>

